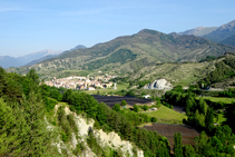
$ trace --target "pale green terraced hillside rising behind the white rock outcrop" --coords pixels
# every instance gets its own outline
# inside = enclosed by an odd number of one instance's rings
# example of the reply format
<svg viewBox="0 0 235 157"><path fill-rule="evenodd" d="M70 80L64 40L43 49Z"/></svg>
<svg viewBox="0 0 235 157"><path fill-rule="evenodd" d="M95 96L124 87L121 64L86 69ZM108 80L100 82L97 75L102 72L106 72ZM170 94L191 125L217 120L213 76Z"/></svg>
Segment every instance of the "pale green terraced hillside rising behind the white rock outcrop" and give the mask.
<svg viewBox="0 0 235 157"><path fill-rule="evenodd" d="M145 67L131 78L138 78L144 75L141 80L156 80L166 78L173 85L188 86L196 80L204 78L213 70L213 62L194 63L164 63L158 66Z"/></svg>

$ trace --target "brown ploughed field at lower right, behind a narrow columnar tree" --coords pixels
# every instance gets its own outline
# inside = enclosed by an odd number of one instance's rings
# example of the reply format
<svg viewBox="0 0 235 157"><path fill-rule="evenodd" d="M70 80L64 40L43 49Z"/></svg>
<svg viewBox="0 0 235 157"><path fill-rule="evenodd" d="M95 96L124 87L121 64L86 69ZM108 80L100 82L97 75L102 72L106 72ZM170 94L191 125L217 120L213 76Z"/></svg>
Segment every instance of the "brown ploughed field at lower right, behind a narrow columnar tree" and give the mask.
<svg viewBox="0 0 235 157"><path fill-rule="evenodd" d="M195 129L179 125L153 124L153 126L145 126L144 128L147 130L157 131L159 135L165 136L169 141L172 150L174 148L175 133L182 134L183 145L188 145L188 144L194 145L194 138L196 136L199 136L199 133L196 131Z"/></svg>

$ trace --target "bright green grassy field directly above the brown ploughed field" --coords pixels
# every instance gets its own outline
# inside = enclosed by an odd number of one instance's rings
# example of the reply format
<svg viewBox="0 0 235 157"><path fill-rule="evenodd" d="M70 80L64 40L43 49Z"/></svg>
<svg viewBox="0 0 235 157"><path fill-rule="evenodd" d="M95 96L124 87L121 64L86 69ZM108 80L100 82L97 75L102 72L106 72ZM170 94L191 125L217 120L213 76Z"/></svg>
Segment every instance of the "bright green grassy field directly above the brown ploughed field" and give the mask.
<svg viewBox="0 0 235 157"><path fill-rule="evenodd" d="M165 106L160 106L160 108L156 111L147 111L146 115L150 117L156 117L158 119L158 122L167 124L182 124L184 118L187 119L187 116L185 114L177 112Z"/></svg>

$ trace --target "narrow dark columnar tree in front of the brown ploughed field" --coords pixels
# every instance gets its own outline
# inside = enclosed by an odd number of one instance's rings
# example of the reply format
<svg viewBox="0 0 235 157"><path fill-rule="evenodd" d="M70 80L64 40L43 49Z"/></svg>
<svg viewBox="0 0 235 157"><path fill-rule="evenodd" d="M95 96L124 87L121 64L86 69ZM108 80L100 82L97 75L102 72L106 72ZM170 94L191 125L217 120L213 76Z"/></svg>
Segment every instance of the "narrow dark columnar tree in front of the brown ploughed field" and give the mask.
<svg viewBox="0 0 235 157"><path fill-rule="evenodd" d="M174 156L175 157L184 157L183 156L183 145L182 145L182 134L174 134Z"/></svg>

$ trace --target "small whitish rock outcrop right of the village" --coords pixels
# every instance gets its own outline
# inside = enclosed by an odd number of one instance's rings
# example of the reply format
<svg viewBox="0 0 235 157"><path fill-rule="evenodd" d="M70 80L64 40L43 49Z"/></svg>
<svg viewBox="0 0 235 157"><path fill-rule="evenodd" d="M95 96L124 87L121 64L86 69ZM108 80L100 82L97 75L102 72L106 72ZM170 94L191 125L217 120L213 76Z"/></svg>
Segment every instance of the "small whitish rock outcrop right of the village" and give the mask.
<svg viewBox="0 0 235 157"><path fill-rule="evenodd" d="M157 79L154 82L145 85L144 89L172 89L172 84L169 84L166 79Z"/></svg>

